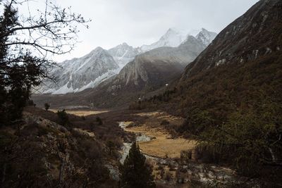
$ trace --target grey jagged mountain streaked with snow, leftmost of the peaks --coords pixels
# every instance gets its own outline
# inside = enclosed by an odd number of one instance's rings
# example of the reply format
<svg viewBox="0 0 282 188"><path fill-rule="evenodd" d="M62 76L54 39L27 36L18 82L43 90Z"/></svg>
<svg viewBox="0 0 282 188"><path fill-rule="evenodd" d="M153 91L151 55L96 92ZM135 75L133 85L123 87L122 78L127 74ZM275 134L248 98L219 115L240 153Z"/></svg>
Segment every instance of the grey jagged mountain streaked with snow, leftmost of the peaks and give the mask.
<svg viewBox="0 0 282 188"><path fill-rule="evenodd" d="M44 82L38 89L39 92L44 94L80 92L95 87L103 80L116 75L119 70L114 58L101 47L97 47L82 58L63 61L59 66L51 72L58 82Z"/></svg>

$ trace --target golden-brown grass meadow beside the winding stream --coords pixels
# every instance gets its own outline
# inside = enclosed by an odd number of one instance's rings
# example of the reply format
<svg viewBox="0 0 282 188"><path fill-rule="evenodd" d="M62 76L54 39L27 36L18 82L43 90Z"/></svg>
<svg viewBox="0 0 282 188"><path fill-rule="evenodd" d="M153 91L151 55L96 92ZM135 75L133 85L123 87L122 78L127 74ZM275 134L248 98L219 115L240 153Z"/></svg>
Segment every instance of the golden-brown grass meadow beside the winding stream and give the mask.
<svg viewBox="0 0 282 188"><path fill-rule="evenodd" d="M148 118L144 124L137 127L127 127L125 130L155 138L139 144L143 153L160 158L179 158L181 151L194 148L195 141L181 137L173 138L161 125L162 120L168 120L171 124L178 126L183 122L182 118L163 112L138 113L137 115L147 116Z"/></svg>

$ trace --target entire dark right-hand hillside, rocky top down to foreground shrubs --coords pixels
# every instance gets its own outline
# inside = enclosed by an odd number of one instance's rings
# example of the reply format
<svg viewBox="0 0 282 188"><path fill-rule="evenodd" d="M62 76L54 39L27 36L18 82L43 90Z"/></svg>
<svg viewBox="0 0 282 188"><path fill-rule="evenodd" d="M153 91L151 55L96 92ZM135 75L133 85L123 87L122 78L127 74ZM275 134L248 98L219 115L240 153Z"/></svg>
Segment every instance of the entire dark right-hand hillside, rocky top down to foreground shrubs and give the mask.
<svg viewBox="0 0 282 188"><path fill-rule="evenodd" d="M205 163L232 165L280 187L282 1L262 0L228 25L166 92L132 104L186 118L175 130L197 139Z"/></svg>

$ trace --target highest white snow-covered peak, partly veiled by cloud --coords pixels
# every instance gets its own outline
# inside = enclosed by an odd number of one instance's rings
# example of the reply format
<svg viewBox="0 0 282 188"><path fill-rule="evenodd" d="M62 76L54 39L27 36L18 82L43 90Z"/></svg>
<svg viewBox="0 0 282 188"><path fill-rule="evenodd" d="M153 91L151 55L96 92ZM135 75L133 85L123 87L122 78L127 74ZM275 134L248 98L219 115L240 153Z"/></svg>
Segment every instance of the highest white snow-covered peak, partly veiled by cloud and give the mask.
<svg viewBox="0 0 282 188"><path fill-rule="evenodd" d="M159 41L154 42L150 45L142 45L140 47L140 51L145 52L152 49L157 49L159 47L177 47L179 46L185 39L186 35L183 32L179 32L175 29L169 29L164 36L159 39Z"/></svg>

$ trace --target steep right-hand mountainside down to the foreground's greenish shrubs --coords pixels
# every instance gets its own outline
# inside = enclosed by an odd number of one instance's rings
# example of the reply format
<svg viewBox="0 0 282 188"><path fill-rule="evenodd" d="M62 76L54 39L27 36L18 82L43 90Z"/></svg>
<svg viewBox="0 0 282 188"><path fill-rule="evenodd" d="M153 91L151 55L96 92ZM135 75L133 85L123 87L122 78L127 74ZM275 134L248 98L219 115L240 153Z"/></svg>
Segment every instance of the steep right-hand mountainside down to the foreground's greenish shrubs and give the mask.
<svg viewBox="0 0 282 188"><path fill-rule="evenodd" d="M282 1L259 1L185 68L164 106L184 117L207 113L214 125L266 99L281 103L281 46Z"/></svg>

